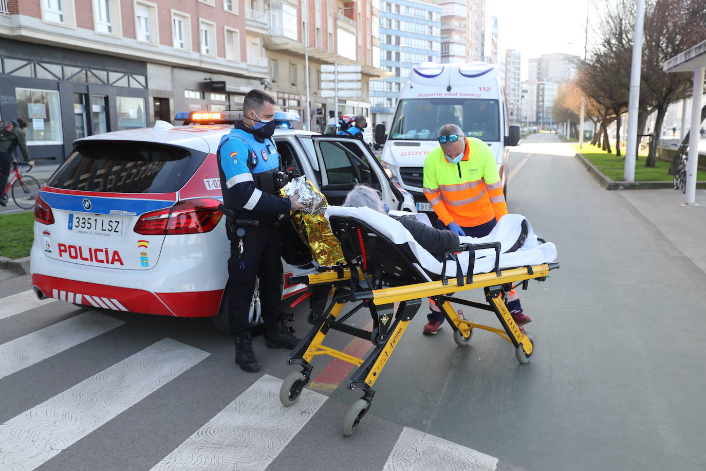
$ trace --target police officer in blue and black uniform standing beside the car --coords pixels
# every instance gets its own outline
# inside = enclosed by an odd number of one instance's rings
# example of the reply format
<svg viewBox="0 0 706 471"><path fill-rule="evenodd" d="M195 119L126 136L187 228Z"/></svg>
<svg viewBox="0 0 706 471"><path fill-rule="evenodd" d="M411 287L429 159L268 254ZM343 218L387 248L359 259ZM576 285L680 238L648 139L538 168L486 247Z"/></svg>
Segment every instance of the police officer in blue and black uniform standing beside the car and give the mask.
<svg viewBox="0 0 706 471"><path fill-rule="evenodd" d="M235 362L244 371L258 371L253 352L248 311L256 277L260 277L260 299L268 348L297 346L299 339L285 325L280 311L280 239L275 222L281 214L305 208L299 196L275 196L275 175L280 155L272 135L275 132L275 100L261 90L251 90L243 100L243 119L221 138L218 145L218 173L223 203L235 213L239 224L230 240L228 259L228 327L235 341Z"/></svg>

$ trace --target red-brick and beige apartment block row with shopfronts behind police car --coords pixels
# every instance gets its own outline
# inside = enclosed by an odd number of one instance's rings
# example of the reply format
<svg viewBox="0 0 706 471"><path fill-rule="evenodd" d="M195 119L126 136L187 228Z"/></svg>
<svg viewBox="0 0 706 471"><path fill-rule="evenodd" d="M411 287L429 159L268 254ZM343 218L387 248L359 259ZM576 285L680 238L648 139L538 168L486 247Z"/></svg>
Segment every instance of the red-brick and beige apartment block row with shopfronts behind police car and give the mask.
<svg viewBox="0 0 706 471"><path fill-rule="evenodd" d="M369 78L385 76L372 65L378 24L372 0L4 0L0 117L28 119L32 156L56 160L83 136L239 109L253 88L306 121L307 55L323 117L321 64L361 64L363 105Z"/></svg>

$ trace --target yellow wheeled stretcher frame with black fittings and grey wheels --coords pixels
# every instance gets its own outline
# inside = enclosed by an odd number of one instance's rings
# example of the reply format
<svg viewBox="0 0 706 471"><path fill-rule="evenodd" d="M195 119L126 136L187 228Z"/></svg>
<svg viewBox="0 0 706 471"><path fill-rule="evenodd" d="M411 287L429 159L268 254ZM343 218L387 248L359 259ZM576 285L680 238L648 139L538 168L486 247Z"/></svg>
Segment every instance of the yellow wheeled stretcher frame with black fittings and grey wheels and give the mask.
<svg viewBox="0 0 706 471"><path fill-rule="evenodd" d="M503 301L505 291L509 291L513 284L523 284L527 287L528 280L543 281L549 270L558 268L558 263L543 263L537 266L525 266L497 270L492 273L472 275L472 277L443 278L442 280L419 282L396 287L378 287L368 291L355 291L351 282L351 273L354 278L366 279L364 270L356 267L352 272L344 266L324 267L323 273L316 273L299 277L297 282L308 285L309 292L318 292L319 297L325 293L329 300L326 309L318 318L309 318L314 326L309 335L301 340L299 345L292 350L289 364L301 364L302 371L294 372L287 376L280 389L280 401L283 405L292 405L299 398L301 390L309 383L313 367L311 360L318 355L327 355L357 367L351 376L348 388L363 390L363 397L356 401L350 408L343 423L343 434L348 436L358 427L365 413L369 410L375 391L372 386L379 378L385 363L400 342L402 334L416 314L421 299L429 297L443 311L445 318L453 326L454 340L459 346L469 343L472 331L475 328L496 333L515 346L515 355L518 362L524 364L530 361L534 352L532 335L517 326L510 315L508 307ZM369 278L367 278L369 280ZM470 281L470 282L467 282ZM484 288L488 305L470 302L465 299L455 298L457 292ZM349 288L349 289L347 289ZM343 307L348 302L361 302L353 311L340 316ZM460 318L450 303L460 303L479 309L494 311L502 328L485 326L480 323L467 321ZM393 312L394 303L397 305ZM366 306L373 317L373 330L362 330L347 326L344 321L357 311L361 306ZM354 357L340 350L323 345L326 335L330 330L349 333L359 338L370 340L375 346L365 358Z"/></svg>

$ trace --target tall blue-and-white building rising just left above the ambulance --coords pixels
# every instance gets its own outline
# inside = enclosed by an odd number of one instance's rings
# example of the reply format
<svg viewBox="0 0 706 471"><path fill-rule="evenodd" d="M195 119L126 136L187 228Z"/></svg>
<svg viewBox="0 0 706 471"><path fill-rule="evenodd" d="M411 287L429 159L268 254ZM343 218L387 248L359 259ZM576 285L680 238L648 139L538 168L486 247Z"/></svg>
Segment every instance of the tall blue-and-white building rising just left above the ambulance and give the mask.
<svg viewBox="0 0 706 471"><path fill-rule="evenodd" d="M390 124L409 69L424 61L441 62L441 7L431 1L381 1L380 67L392 73L370 82L373 124Z"/></svg>

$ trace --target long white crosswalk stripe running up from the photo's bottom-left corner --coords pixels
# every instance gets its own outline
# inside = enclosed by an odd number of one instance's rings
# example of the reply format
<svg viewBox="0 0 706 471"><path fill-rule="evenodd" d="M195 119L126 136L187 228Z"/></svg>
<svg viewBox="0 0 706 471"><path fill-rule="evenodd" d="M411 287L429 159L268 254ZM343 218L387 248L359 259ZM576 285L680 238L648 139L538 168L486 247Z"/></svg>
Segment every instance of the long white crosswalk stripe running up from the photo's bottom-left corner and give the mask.
<svg viewBox="0 0 706 471"><path fill-rule="evenodd" d="M0 468L35 469L208 355L160 340L8 420L0 425Z"/></svg>

